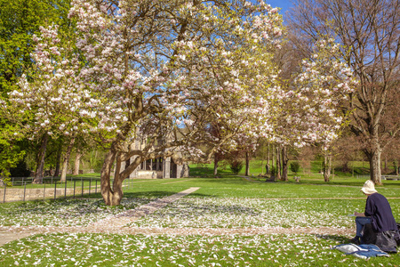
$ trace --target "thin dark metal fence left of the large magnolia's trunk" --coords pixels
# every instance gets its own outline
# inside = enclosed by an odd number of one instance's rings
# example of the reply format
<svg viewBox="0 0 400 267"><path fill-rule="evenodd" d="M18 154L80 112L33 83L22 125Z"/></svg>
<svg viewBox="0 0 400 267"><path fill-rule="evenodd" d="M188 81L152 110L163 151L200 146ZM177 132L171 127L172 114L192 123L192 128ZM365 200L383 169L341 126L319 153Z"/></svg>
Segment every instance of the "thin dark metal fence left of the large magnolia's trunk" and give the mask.
<svg viewBox="0 0 400 267"><path fill-rule="evenodd" d="M13 177L0 188L0 202L44 200L56 198L84 198L100 193L100 179L68 177L60 182L59 177L45 177L43 183L32 183L32 177ZM112 184L113 180L111 180ZM132 187L132 179L125 179L124 188Z"/></svg>

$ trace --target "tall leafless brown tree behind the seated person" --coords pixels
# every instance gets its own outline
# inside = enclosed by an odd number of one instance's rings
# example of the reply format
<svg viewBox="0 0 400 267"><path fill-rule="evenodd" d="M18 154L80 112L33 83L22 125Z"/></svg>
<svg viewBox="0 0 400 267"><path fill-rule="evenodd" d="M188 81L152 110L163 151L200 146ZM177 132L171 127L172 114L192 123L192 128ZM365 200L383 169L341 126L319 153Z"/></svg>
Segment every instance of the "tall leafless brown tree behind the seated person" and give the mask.
<svg viewBox="0 0 400 267"><path fill-rule="evenodd" d="M291 28L296 44L329 34L343 44L343 58L359 79L344 112L352 112L350 129L364 140L371 180L381 182L380 155L398 134L399 120L389 109L398 91L400 3L398 0L295 0ZM307 45L303 45L307 50Z"/></svg>

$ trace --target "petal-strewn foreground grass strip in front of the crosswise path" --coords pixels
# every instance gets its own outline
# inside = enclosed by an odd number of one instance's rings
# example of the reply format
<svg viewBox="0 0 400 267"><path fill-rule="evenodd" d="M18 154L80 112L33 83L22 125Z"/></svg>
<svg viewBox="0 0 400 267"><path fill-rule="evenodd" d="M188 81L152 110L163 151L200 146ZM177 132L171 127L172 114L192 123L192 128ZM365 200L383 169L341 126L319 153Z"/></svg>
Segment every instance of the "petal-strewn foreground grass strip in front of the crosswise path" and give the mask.
<svg viewBox="0 0 400 267"><path fill-rule="evenodd" d="M0 247L2 266L396 266L398 256L364 261L320 235L144 236L46 234Z"/></svg>

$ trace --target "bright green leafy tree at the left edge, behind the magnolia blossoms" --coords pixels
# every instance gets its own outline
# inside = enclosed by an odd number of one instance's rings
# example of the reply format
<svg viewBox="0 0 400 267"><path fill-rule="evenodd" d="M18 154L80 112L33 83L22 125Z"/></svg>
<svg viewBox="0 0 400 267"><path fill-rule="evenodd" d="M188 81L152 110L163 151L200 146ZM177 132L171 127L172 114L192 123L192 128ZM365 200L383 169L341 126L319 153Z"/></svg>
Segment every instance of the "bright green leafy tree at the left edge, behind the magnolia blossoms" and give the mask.
<svg viewBox="0 0 400 267"><path fill-rule="evenodd" d="M20 125L4 116L3 101L17 86L24 70L33 65L32 36L40 26L56 23L68 32L70 0L0 0L0 177L22 160L26 148ZM3 110L4 111L4 110ZM0 178L1 179L1 178Z"/></svg>

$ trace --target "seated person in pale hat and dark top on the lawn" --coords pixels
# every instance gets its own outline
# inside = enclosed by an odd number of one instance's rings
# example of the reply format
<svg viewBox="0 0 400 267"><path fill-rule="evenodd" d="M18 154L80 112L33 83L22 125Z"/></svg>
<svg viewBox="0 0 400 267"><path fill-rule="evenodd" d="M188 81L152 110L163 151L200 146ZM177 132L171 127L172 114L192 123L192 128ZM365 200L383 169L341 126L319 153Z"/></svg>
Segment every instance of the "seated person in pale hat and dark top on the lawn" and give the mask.
<svg viewBox="0 0 400 267"><path fill-rule="evenodd" d="M389 239L392 239L393 234L394 239L394 235L398 230L388 199L375 190L375 185L371 180L364 183L361 191L368 198L365 203L364 213L354 213L356 215L356 237L351 239L350 242L356 245L363 243L362 230L367 223L372 224L372 230L375 233L388 233ZM395 241L393 240L393 242ZM379 244L376 245L380 247Z"/></svg>

